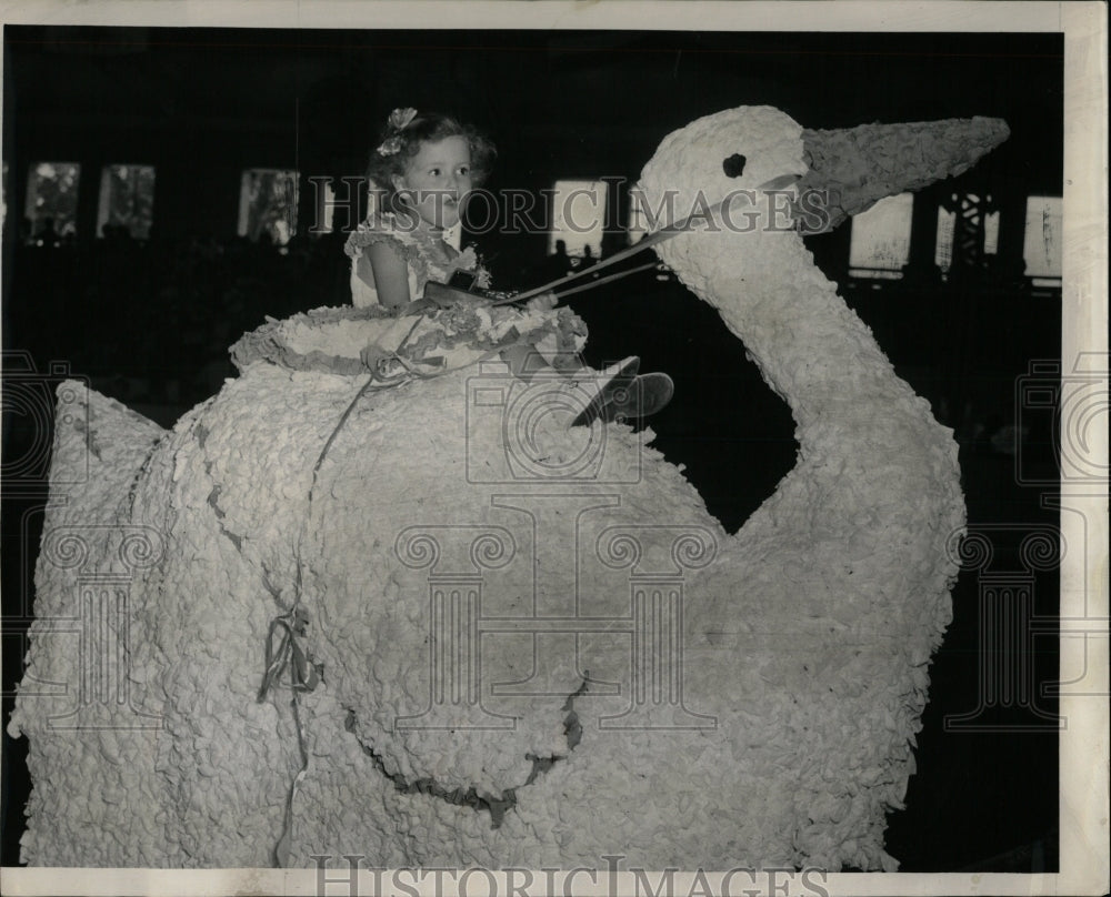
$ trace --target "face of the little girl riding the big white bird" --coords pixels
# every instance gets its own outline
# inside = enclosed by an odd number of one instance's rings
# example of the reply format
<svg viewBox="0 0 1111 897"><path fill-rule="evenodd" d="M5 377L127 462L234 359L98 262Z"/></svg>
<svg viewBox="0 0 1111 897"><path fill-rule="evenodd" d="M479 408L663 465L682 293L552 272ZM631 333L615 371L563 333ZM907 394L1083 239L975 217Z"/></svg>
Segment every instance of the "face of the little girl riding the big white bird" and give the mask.
<svg viewBox="0 0 1111 897"><path fill-rule="evenodd" d="M471 150L467 139L446 137L426 141L409 160L404 178L393 178L393 189L406 204L432 228L447 229L459 222L471 191Z"/></svg>

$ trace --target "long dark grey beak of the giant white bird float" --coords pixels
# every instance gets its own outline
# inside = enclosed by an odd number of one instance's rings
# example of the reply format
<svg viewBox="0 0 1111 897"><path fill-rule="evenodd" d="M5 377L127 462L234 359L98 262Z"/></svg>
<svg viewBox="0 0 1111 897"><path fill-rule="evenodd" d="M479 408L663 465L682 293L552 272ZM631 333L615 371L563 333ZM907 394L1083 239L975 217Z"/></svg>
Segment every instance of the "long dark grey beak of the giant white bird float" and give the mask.
<svg viewBox="0 0 1111 897"><path fill-rule="evenodd" d="M884 196L921 190L960 174L1010 137L1002 119L944 119L804 130L800 202L823 214L800 214L802 233L824 233Z"/></svg>

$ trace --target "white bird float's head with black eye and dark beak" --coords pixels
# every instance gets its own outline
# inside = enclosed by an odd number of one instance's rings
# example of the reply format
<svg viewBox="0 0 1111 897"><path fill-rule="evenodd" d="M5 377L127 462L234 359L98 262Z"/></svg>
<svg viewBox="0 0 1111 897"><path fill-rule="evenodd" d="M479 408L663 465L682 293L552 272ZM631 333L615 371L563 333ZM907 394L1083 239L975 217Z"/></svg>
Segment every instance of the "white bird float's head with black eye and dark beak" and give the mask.
<svg viewBox="0 0 1111 897"><path fill-rule="evenodd" d="M705 220L725 200L727 232L820 233L961 174L1009 135L1002 119L983 117L804 130L772 107L742 105L668 134L633 198L649 231Z"/></svg>

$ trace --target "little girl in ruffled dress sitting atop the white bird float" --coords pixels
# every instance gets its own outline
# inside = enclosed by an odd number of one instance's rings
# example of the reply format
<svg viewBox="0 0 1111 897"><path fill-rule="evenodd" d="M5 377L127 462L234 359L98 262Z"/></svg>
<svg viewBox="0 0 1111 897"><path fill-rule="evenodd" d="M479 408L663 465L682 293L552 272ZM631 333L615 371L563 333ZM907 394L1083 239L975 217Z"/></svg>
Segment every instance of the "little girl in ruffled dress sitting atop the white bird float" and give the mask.
<svg viewBox="0 0 1111 897"><path fill-rule="evenodd" d="M486 179L496 154L489 140L456 119L411 108L390 113L368 167L371 208L344 248L352 260L354 305L377 303L401 314L422 299L429 281L448 283L457 271L472 273L477 286L490 285L490 275L474 250L459 252L446 236L452 230L458 233L468 195ZM533 300L529 308L550 309L556 301L549 294ZM522 380L550 373L554 365L571 381L594 391L575 424L599 417L647 416L663 407L673 391L667 374L638 376L640 360L635 356L601 376L577 356L548 359L533 346L509 346L501 356Z"/></svg>

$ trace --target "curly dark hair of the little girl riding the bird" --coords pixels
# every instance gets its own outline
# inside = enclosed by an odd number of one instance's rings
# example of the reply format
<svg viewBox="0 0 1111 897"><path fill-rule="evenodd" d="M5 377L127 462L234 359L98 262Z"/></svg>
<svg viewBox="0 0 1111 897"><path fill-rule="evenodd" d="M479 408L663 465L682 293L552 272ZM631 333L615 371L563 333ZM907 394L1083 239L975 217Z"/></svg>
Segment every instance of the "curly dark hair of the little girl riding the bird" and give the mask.
<svg viewBox="0 0 1111 897"><path fill-rule="evenodd" d="M367 165L367 180L370 189L382 198L382 208L389 211L402 211L398 193L393 189L393 178L404 177L409 162L420 152L422 143L437 142L449 137L461 137L467 140L471 151L471 180L474 187L481 187L489 177L493 160L498 155L494 144L470 124L466 124L450 115L439 112L418 112L403 128L398 129L392 122L387 122L379 135L379 143L393 142L398 150L383 154L374 149L370 152Z"/></svg>

